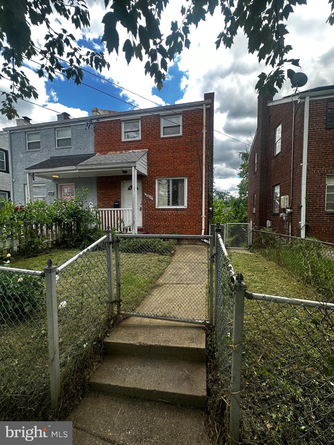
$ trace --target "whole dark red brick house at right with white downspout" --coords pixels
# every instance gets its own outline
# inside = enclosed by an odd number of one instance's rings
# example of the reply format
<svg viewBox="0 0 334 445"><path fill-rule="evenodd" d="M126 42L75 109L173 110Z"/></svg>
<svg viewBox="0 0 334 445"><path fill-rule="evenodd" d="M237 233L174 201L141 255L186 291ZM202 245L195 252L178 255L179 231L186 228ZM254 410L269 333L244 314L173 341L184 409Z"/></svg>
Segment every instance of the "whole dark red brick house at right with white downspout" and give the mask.
<svg viewBox="0 0 334 445"><path fill-rule="evenodd" d="M334 85L259 97L248 159L248 222L334 243Z"/></svg>

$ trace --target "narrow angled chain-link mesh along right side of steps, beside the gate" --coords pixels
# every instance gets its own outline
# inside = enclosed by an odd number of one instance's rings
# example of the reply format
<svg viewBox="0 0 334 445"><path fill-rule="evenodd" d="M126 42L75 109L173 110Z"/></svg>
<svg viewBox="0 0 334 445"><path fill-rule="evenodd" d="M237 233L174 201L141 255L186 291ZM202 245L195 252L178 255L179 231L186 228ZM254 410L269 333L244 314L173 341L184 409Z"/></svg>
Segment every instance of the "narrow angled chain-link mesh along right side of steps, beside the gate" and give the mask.
<svg viewBox="0 0 334 445"><path fill-rule="evenodd" d="M216 237L215 255L215 336L220 379L227 391L231 381L234 271L221 238Z"/></svg>

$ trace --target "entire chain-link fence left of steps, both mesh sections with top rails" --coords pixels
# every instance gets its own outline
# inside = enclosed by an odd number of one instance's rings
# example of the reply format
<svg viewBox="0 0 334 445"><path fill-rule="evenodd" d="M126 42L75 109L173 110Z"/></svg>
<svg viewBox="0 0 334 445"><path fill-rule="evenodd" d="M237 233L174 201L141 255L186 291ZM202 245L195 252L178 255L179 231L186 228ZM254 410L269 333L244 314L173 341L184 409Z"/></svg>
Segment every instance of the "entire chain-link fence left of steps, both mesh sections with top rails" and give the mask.
<svg viewBox="0 0 334 445"><path fill-rule="evenodd" d="M48 416L57 351L58 413L81 391L108 327L108 245L104 236L58 269L50 265L53 289L44 271L0 267L0 421Z"/></svg>

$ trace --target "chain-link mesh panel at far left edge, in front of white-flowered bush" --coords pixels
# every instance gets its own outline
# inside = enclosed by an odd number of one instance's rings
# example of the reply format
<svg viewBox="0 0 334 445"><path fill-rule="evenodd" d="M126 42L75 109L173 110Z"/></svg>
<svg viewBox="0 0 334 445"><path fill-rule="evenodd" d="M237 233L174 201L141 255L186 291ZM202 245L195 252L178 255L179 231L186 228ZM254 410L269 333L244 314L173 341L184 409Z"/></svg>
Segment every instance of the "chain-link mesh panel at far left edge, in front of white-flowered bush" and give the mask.
<svg viewBox="0 0 334 445"><path fill-rule="evenodd" d="M37 272L0 270L0 421L26 420L48 405L45 281Z"/></svg>

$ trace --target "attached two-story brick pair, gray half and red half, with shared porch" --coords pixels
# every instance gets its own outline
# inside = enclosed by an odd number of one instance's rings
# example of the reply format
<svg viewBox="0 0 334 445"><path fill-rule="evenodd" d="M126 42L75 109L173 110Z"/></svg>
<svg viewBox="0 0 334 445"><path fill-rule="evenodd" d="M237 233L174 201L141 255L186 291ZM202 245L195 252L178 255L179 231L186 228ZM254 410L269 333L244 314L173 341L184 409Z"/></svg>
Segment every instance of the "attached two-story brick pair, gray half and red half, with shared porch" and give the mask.
<svg viewBox="0 0 334 445"><path fill-rule="evenodd" d="M208 233L214 93L198 102L8 128L13 201L70 198L88 188L104 227ZM137 190L137 193L134 193ZM135 210L136 209L136 210Z"/></svg>

